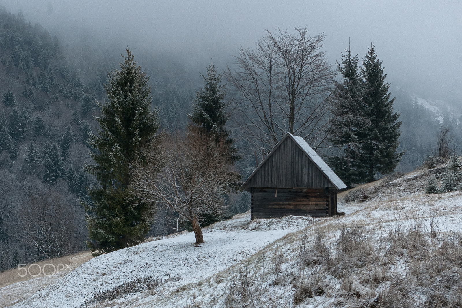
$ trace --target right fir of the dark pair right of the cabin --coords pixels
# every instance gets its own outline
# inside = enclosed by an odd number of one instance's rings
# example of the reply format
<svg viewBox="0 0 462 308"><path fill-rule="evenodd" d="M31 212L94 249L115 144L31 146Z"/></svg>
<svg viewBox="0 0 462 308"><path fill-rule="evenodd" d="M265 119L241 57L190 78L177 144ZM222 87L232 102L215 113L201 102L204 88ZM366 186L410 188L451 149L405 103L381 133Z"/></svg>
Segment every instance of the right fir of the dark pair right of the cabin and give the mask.
<svg viewBox="0 0 462 308"><path fill-rule="evenodd" d="M359 161L366 167L366 180L371 182L378 172L393 172L404 152L397 152L401 136L400 113L393 112L395 98L390 99L390 84L385 83L387 75L373 45L363 59L361 74L364 86L362 114L367 121L358 133L362 141Z"/></svg>

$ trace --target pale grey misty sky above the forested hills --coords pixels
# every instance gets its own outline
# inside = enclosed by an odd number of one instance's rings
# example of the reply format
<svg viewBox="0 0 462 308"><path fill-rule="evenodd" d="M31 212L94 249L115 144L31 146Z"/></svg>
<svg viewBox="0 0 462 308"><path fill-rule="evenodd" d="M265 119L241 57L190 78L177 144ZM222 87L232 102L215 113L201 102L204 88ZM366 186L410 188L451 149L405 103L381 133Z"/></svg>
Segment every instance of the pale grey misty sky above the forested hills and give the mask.
<svg viewBox="0 0 462 308"><path fill-rule="evenodd" d="M308 25L327 35L334 63L348 47L363 57L371 42L392 86L462 107L462 1L0 0L63 42L94 37L188 61L232 61L264 30ZM416 3L419 3L416 5ZM74 37L72 37L74 36Z"/></svg>

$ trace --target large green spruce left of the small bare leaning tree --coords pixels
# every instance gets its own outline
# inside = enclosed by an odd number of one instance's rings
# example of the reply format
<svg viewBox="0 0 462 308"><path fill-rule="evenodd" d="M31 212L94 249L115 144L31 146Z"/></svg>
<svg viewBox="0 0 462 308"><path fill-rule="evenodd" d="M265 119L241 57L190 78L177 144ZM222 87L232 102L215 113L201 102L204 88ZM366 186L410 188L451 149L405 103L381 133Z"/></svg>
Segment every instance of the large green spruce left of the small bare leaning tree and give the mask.
<svg viewBox="0 0 462 308"><path fill-rule="evenodd" d="M140 243L149 230L145 214L150 204L132 205L131 166L146 163L146 154L156 141L156 114L152 112L148 77L127 49L120 70L109 75L107 100L99 104L97 122L101 130L91 135L91 154L96 165L86 170L96 176L100 187L89 190L88 246L96 255Z"/></svg>

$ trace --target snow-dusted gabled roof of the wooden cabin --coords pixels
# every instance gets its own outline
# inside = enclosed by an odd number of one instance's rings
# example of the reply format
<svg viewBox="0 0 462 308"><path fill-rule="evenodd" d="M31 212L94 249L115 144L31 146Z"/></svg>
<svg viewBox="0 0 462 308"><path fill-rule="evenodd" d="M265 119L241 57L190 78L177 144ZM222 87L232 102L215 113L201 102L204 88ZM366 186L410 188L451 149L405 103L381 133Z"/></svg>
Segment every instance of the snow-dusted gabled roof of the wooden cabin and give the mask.
<svg viewBox="0 0 462 308"><path fill-rule="evenodd" d="M327 178L327 180L334 185L337 190L346 188L346 185L343 181L332 171L332 169L325 163L324 160L310 147L310 145L300 136L293 136L291 133L287 133L278 144L271 150L271 152L265 157L264 160L255 168L254 172L247 178L247 180L242 184L241 187L245 187L248 184L249 180L258 172L259 169L265 164L265 162L271 157L271 155L276 151L277 148L286 140L286 138L292 139L297 145L298 148L302 150L306 156L312 161L312 163L321 171L321 173Z"/></svg>

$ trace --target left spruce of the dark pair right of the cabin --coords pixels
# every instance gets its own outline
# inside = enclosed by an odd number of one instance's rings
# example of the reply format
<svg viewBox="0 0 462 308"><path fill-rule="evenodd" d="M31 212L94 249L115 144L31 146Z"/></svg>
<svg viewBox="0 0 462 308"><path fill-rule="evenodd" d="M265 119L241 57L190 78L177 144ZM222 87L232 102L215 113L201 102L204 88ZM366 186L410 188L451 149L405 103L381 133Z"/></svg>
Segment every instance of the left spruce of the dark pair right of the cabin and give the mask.
<svg viewBox="0 0 462 308"><path fill-rule="evenodd" d="M341 83L335 83L333 125L329 136L332 144L339 146L341 154L329 158L335 173L348 187L360 183L365 178L364 166L359 162L358 132L364 125L362 117L362 77L359 73L358 55L345 49L337 70L342 76Z"/></svg>

